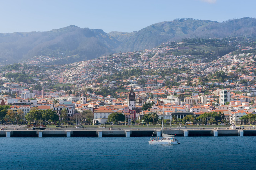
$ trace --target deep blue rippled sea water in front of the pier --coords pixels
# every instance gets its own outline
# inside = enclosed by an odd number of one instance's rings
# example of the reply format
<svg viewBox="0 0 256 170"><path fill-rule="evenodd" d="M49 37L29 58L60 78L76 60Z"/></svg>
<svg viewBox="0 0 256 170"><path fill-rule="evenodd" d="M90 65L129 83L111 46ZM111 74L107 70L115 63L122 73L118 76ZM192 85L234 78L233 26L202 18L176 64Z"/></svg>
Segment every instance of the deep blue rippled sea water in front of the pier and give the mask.
<svg viewBox="0 0 256 170"><path fill-rule="evenodd" d="M179 145L149 145L150 137L0 138L0 170L256 169L256 137L178 137Z"/></svg>

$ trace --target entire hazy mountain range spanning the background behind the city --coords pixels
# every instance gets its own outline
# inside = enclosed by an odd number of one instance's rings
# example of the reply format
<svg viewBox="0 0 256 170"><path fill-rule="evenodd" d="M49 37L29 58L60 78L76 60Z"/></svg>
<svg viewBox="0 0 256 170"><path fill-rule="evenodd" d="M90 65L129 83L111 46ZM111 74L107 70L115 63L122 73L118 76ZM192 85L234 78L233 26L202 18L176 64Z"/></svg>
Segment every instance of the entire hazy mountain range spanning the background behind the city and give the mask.
<svg viewBox="0 0 256 170"><path fill-rule="evenodd" d="M93 59L102 55L152 49L182 38L256 37L256 19L226 22L176 19L152 24L131 33L68 26L45 32L0 33L0 60L14 63L34 56L63 56L64 62ZM66 56L72 56L67 57ZM7 61L8 62L7 62Z"/></svg>

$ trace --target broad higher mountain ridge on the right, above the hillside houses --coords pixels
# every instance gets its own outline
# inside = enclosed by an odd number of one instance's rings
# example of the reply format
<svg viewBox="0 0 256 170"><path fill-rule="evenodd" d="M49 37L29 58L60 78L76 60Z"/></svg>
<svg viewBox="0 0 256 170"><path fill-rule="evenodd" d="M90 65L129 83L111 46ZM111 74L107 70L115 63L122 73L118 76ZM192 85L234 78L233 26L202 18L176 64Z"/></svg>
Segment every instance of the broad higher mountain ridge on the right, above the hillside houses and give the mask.
<svg viewBox="0 0 256 170"><path fill-rule="evenodd" d="M256 19L241 18L219 23L209 20L176 19L152 24L138 32L112 31L108 34L122 42L115 51L137 51L152 49L161 43L182 38L211 38L229 36L255 36Z"/></svg>

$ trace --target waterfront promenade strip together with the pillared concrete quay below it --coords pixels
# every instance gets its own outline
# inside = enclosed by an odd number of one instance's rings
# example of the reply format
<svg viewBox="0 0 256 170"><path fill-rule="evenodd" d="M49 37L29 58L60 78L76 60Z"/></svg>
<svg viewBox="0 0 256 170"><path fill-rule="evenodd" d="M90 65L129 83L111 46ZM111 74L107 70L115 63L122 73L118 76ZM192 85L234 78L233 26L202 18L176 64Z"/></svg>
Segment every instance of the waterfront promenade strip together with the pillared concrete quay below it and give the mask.
<svg viewBox="0 0 256 170"><path fill-rule="evenodd" d="M48 127L46 130L31 130L24 126L1 126L0 137L145 137L161 136L161 128L114 126L66 128ZM155 130L154 130L155 129ZM230 129L228 127L164 127L164 134L175 136L256 136L256 130Z"/></svg>

